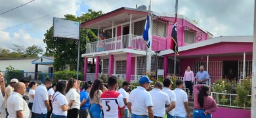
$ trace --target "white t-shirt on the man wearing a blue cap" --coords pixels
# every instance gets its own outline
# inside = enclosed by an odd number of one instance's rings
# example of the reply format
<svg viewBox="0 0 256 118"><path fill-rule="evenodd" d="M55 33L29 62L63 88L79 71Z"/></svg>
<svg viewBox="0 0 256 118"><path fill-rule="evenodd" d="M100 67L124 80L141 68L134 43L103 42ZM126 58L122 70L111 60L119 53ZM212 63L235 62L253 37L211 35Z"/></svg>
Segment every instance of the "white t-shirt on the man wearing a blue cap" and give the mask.
<svg viewBox="0 0 256 118"><path fill-rule="evenodd" d="M148 107L153 106L150 93L143 87L132 90L128 102L131 103L131 113L135 115L148 115Z"/></svg>

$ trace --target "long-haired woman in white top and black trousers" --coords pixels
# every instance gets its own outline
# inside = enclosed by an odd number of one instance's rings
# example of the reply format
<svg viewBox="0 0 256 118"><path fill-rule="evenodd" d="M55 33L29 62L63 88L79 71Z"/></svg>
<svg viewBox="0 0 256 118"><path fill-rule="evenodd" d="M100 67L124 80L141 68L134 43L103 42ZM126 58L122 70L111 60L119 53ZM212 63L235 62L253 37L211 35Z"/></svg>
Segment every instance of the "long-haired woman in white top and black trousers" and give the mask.
<svg viewBox="0 0 256 118"><path fill-rule="evenodd" d="M77 85L76 79L72 78L68 80L66 88L66 98L68 100L68 106L70 106L70 109L68 110L68 118L78 117L81 102L77 88L79 88L79 85Z"/></svg>

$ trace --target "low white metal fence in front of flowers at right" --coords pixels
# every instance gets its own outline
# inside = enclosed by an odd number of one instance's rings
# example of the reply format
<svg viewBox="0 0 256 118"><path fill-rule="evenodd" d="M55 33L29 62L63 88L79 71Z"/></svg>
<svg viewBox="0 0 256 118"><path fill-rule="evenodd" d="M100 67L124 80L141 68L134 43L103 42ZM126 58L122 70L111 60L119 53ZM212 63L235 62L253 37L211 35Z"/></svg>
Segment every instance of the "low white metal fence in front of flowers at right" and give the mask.
<svg viewBox="0 0 256 118"><path fill-rule="evenodd" d="M236 98L238 94L227 94L227 93L219 93L219 92L211 92L211 96L215 99L218 106L224 106L228 108L242 108L242 109L251 109L251 106L238 106ZM251 95L248 95L251 98Z"/></svg>

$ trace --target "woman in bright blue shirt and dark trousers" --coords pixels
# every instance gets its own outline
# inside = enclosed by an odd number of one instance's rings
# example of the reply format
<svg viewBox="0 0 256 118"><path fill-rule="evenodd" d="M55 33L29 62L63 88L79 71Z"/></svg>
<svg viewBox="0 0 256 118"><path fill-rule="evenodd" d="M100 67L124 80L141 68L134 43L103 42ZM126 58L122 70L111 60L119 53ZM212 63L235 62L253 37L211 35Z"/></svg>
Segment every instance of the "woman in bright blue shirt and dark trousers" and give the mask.
<svg viewBox="0 0 256 118"><path fill-rule="evenodd" d="M79 110L79 118L87 118L90 107L90 99L89 92L91 90L91 85L87 82L82 87L82 91L80 92L80 110Z"/></svg>

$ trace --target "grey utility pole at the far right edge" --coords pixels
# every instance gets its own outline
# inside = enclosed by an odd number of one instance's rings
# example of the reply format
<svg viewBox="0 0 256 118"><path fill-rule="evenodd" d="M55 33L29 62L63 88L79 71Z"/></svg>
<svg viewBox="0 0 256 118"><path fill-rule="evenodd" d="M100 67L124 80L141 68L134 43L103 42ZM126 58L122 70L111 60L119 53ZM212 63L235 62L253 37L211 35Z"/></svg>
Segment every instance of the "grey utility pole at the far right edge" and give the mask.
<svg viewBox="0 0 256 118"><path fill-rule="evenodd" d="M254 1L253 23L253 74L251 83L251 118L256 118L256 0Z"/></svg>

